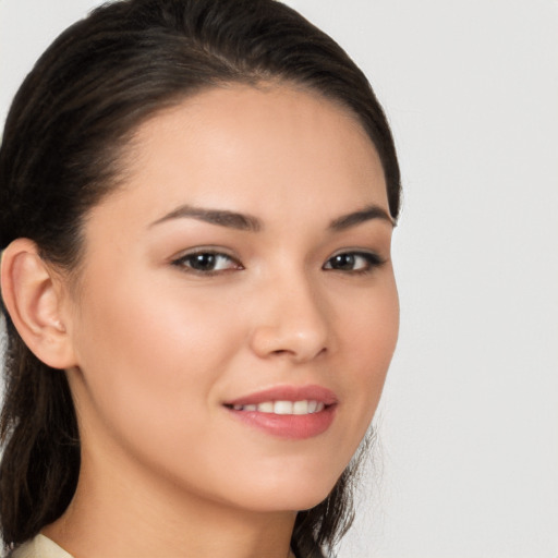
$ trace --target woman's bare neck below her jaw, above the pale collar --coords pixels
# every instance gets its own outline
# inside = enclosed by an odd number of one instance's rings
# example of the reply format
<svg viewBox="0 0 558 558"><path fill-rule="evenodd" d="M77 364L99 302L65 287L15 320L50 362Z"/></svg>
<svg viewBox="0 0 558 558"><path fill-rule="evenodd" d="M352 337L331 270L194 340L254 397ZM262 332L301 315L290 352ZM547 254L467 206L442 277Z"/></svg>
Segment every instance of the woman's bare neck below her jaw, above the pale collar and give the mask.
<svg viewBox="0 0 558 558"><path fill-rule="evenodd" d="M71 505L43 533L75 558L290 556L295 512L239 509L128 465L84 452Z"/></svg>

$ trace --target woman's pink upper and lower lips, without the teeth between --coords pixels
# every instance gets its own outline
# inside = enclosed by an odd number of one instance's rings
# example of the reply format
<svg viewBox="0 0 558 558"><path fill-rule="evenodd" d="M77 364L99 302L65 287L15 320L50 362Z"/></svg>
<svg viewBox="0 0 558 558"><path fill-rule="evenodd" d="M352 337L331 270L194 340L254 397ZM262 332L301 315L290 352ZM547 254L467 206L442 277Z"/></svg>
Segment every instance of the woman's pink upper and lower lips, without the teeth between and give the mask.
<svg viewBox="0 0 558 558"><path fill-rule="evenodd" d="M323 402L325 408L319 412L304 415L233 409L233 405L259 404L266 401L304 400ZM302 440L318 436L331 426L338 402L337 396L322 386L279 386L227 401L223 407L233 418L248 427L278 438Z"/></svg>

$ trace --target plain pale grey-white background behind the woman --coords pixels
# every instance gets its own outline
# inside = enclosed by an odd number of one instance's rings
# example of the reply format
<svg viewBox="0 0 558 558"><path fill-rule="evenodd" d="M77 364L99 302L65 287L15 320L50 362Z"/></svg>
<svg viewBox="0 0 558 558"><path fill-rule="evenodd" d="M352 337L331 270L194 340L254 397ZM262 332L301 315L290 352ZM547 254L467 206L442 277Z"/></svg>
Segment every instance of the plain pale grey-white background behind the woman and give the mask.
<svg viewBox="0 0 558 558"><path fill-rule="evenodd" d="M0 0L0 120L94 0ZM558 2L291 0L397 138L400 343L342 558L558 556Z"/></svg>

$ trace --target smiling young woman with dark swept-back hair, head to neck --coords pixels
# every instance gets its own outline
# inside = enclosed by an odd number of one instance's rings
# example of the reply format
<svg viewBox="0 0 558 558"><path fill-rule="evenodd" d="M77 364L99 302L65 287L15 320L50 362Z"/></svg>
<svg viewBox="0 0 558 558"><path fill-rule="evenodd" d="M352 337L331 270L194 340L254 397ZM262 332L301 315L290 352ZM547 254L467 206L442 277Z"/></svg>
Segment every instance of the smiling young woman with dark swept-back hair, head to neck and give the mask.
<svg viewBox="0 0 558 558"><path fill-rule="evenodd" d="M0 153L14 556L326 556L398 330L391 134L272 0L123 0Z"/></svg>

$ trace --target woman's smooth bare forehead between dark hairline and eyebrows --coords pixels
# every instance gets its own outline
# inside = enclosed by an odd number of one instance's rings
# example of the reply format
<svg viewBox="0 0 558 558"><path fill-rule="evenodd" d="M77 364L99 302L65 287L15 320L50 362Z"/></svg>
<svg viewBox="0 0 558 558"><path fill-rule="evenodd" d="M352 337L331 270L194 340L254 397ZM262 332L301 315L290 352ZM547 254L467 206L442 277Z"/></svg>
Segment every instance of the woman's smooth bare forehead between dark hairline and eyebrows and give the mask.
<svg viewBox="0 0 558 558"><path fill-rule="evenodd" d="M184 203L264 220L316 204L328 218L387 208L381 163L356 117L286 85L214 88L156 114L138 128L124 169L118 192L133 193L153 220Z"/></svg>

